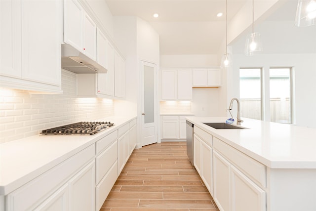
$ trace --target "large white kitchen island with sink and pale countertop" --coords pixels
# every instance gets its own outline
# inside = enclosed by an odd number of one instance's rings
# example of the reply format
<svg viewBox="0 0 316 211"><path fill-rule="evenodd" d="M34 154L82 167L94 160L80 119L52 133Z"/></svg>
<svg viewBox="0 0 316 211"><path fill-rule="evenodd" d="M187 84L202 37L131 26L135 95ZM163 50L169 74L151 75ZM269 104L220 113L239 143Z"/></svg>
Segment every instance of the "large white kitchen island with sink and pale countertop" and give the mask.
<svg viewBox="0 0 316 211"><path fill-rule="evenodd" d="M226 119L187 118L201 153L195 167L220 210L316 211L316 129L245 118L243 129L203 124Z"/></svg>

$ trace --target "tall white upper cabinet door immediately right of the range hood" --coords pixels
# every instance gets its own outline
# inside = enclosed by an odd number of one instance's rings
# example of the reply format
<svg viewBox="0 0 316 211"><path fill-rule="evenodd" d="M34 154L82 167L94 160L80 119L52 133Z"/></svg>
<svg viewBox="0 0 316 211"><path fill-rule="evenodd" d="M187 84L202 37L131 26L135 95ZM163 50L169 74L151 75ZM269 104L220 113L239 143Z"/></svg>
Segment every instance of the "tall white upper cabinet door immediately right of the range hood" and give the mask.
<svg viewBox="0 0 316 211"><path fill-rule="evenodd" d="M106 36L98 29L97 61L108 72L97 75L98 94L114 96L114 47Z"/></svg>

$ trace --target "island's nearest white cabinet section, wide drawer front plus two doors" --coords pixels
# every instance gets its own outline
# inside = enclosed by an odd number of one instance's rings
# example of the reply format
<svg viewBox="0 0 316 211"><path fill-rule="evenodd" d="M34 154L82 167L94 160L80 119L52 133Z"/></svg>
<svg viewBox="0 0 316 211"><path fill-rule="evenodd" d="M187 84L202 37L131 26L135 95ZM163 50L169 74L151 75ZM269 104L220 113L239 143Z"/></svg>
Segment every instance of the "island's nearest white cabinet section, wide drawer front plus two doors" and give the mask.
<svg viewBox="0 0 316 211"><path fill-rule="evenodd" d="M245 156L214 138L213 198L220 210L266 211L266 192L260 187L266 184L261 179L265 169Z"/></svg>

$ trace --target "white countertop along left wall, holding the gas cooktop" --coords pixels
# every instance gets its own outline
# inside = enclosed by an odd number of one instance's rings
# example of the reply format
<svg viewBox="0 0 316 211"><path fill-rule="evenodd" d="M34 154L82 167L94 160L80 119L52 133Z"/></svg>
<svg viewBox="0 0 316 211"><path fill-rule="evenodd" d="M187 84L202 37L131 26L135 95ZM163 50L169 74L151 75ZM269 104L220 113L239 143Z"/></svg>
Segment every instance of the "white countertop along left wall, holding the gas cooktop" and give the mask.
<svg viewBox="0 0 316 211"><path fill-rule="evenodd" d="M107 117L115 125L94 135L35 135L0 144L0 195L53 168L136 117Z"/></svg>

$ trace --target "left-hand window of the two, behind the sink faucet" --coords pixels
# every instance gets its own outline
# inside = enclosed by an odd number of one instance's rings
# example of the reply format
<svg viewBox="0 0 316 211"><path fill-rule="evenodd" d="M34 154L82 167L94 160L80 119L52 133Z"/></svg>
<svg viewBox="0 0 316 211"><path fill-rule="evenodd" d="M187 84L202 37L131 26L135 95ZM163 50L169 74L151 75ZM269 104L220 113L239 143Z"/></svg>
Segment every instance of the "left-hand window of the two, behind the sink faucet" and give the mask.
<svg viewBox="0 0 316 211"><path fill-rule="evenodd" d="M240 116L262 119L261 68L239 69Z"/></svg>

